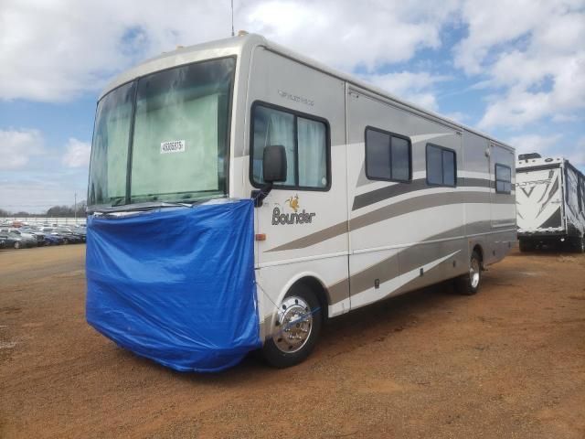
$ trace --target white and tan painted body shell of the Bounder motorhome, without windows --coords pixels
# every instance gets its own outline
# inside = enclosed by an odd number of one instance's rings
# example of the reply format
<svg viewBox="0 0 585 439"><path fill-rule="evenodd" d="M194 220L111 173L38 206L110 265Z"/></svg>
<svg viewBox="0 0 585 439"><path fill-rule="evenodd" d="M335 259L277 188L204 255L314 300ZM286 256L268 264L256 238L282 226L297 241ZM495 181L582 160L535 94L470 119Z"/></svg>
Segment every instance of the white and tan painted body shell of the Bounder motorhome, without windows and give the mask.
<svg viewBox="0 0 585 439"><path fill-rule="evenodd" d="M253 182L258 157L250 158L253 137L260 135L252 128L259 108L290 114L296 124L317 123L326 132L326 175L315 183L318 187L275 185L255 209L262 338L273 334L279 306L295 284L308 285L324 317L334 317L469 273L473 251L484 267L510 251L516 241L511 146L263 37L165 53L123 73L103 95L155 71L222 57L237 59L229 198L250 198L259 189ZM406 181L367 177L368 129L410 145ZM428 151L439 150L443 166L455 158L454 185L428 182ZM496 190L496 166L509 170L502 191Z"/></svg>

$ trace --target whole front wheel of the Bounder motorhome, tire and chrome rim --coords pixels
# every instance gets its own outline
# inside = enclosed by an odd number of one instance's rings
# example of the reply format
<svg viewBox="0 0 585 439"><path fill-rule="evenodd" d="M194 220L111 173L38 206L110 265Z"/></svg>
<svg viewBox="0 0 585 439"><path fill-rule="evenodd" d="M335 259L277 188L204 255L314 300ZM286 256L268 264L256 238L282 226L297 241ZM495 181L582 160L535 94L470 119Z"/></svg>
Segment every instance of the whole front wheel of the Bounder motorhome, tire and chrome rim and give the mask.
<svg viewBox="0 0 585 439"><path fill-rule="evenodd" d="M303 316L307 318L291 326L291 322L299 321ZM276 326L272 327L272 336L264 342L262 356L272 367L279 369L299 364L313 352L322 326L323 314L317 297L306 285L297 285L284 296L279 306ZM307 331L309 335L303 338Z"/></svg>

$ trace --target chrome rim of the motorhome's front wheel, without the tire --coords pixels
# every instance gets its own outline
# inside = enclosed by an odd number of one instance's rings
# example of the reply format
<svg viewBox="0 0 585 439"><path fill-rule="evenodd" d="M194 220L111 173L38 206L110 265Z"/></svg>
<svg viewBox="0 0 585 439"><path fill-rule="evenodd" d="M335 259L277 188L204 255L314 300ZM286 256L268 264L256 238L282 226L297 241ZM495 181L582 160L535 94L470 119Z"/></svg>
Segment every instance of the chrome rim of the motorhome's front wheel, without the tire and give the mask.
<svg viewBox="0 0 585 439"><path fill-rule="evenodd" d="M292 354L306 345L313 330L311 307L303 298L286 297L276 316L272 340L282 352Z"/></svg>

